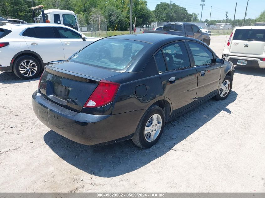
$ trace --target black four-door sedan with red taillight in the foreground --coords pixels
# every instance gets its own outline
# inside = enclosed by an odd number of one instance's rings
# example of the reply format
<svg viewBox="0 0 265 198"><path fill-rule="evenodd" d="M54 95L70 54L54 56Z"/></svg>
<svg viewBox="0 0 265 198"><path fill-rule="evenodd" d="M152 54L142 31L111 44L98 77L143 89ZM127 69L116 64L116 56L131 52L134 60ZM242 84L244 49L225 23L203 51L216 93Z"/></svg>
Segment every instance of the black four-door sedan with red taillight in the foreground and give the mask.
<svg viewBox="0 0 265 198"><path fill-rule="evenodd" d="M33 94L36 116L85 145L159 140L165 123L231 92L234 67L187 37L136 34L103 38L50 64Z"/></svg>

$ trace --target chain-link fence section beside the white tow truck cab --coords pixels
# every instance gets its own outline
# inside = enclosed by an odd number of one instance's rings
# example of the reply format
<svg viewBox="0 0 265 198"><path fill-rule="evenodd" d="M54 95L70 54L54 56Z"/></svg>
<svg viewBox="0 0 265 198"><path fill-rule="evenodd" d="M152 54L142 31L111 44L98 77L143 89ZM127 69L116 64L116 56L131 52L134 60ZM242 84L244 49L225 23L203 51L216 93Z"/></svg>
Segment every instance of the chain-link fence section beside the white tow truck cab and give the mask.
<svg viewBox="0 0 265 198"><path fill-rule="evenodd" d="M79 24L80 30L82 33L86 33L86 35L91 37L106 37L107 36L107 24L100 23L93 24L93 23L82 23ZM91 34L91 35L90 35Z"/></svg>

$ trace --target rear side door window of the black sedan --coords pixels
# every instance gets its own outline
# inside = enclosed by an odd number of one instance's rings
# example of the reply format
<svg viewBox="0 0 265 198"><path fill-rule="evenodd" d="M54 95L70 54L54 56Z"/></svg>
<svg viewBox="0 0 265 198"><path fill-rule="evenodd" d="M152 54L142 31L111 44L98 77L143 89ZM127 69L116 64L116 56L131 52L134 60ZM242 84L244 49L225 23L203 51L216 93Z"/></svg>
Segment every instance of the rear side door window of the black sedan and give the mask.
<svg viewBox="0 0 265 198"><path fill-rule="evenodd" d="M190 67L188 52L183 42L167 45L162 50L167 61L168 70Z"/></svg>

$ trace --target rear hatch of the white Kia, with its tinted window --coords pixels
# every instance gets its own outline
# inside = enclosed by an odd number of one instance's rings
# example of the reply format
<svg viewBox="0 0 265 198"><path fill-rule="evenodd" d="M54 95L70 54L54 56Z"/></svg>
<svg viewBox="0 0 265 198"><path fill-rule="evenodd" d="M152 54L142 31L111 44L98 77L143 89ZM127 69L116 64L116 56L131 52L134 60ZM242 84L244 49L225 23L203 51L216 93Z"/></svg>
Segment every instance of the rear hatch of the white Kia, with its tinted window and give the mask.
<svg viewBox="0 0 265 198"><path fill-rule="evenodd" d="M265 29L236 29L230 52L262 55L264 47Z"/></svg>

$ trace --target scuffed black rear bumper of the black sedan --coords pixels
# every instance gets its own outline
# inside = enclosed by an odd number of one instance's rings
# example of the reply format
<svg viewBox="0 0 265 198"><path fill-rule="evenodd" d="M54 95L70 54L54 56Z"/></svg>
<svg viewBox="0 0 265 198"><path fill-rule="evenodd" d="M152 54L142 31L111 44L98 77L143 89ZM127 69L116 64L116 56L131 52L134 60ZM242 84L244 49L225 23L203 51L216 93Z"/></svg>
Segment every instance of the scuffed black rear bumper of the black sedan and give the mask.
<svg viewBox="0 0 265 198"><path fill-rule="evenodd" d="M91 115L65 109L42 97L32 95L38 119L56 133L84 145L113 143L132 138L145 110L115 115Z"/></svg>

